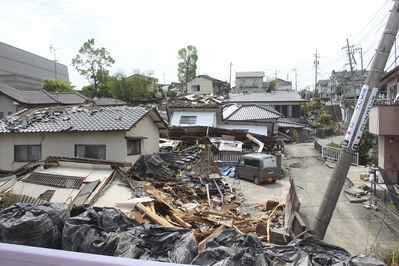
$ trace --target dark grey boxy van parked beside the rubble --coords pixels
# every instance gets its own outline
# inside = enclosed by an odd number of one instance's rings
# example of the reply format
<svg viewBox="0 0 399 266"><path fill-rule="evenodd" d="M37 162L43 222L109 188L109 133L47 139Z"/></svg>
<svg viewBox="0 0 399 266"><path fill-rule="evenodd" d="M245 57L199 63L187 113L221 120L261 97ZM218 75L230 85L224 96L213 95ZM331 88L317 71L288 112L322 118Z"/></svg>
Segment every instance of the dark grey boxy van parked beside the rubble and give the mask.
<svg viewBox="0 0 399 266"><path fill-rule="evenodd" d="M280 177L279 173L276 156L271 154L245 154L235 166L235 178L252 180L257 185L276 182Z"/></svg>

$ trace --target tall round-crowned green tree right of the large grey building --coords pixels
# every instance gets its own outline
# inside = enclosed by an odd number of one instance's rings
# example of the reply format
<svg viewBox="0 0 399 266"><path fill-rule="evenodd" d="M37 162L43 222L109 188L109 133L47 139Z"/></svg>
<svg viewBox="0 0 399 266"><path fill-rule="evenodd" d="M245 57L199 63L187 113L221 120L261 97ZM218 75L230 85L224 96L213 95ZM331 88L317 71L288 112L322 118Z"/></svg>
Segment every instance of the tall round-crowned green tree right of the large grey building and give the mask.
<svg viewBox="0 0 399 266"><path fill-rule="evenodd" d="M79 54L72 59L72 66L93 85L93 97L101 84L106 82L109 74L107 67L112 66L115 60L109 52L101 47L94 48L94 39L89 39L79 50Z"/></svg>

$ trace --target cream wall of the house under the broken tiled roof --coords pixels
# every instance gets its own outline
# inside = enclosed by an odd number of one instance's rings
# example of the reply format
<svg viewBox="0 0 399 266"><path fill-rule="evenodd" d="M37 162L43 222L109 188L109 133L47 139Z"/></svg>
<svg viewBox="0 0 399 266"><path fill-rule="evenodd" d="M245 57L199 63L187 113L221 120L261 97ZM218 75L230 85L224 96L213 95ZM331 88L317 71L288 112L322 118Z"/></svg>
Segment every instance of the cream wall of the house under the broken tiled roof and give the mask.
<svg viewBox="0 0 399 266"><path fill-rule="evenodd" d="M159 129L150 117L141 120L130 131L73 133L7 133L0 134L0 169L16 170L26 162L14 162L14 145L42 145L42 159L47 156L75 156L75 145L105 145L107 160L134 163L140 155L127 155L125 136L146 137L142 154L159 151Z"/></svg>

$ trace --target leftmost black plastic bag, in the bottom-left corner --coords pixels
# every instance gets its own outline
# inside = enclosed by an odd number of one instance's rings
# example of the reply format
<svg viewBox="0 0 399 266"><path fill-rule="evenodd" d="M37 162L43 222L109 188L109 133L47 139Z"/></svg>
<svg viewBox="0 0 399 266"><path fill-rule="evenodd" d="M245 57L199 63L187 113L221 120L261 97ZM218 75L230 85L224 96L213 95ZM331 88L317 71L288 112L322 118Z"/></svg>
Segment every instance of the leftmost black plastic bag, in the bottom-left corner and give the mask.
<svg viewBox="0 0 399 266"><path fill-rule="evenodd" d="M15 203L0 212L0 242L61 249L68 218L65 203Z"/></svg>

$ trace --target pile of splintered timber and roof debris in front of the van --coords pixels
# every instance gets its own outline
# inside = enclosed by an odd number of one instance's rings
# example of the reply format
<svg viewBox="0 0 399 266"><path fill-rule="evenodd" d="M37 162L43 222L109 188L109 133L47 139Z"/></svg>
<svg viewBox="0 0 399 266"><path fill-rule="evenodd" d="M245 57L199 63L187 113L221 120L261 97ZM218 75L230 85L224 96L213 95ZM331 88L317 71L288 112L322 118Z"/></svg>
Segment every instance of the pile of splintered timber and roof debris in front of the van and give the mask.
<svg viewBox="0 0 399 266"><path fill-rule="evenodd" d="M128 215L166 227L192 229L199 247L225 228L242 234L256 233L260 240L269 242L267 229L284 226L284 203L245 206L242 193L231 188L224 177L207 173L209 164L213 164L209 158L205 145L142 156L125 180L135 197L151 197L155 201L137 203L140 213L136 210Z"/></svg>

